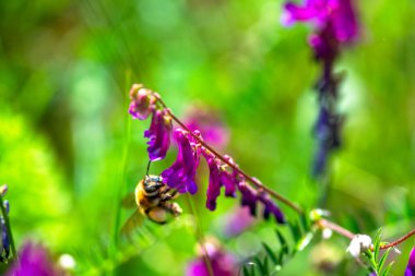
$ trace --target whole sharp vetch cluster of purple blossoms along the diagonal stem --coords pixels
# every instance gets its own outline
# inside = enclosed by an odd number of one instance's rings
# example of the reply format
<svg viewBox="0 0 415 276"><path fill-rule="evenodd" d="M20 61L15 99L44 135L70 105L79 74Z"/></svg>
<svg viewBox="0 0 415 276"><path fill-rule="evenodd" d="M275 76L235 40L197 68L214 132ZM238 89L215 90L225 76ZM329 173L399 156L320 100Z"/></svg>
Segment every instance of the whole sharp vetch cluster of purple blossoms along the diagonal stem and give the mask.
<svg viewBox="0 0 415 276"><path fill-rule="evenodd" d="M257 215L257 206L262 205L262 216L269 219L272 216L283 224L284 215L280 207L271 200L264 189L253 189L241 173L238 166L229 156L222 156L211 148L198 130L189 130L162 101L159 95L142 85L134 84L130 91L129 112L134 119L146 119L152 115L150 129L144 132L149 141L150 160L164 159L170 145L173 121L180 128L174 131L174 139L178 145L178 154L175 163L162 172L163 181L179 193L194 194L198 191L195 173L203 156L209 166L209 185L206 192L206 207L216 208L216 200L224 188L224 195L236 197L237 191L241 194L241 205L248 206L251 215ZM251 178L257 185L259 180Z"/></svg>

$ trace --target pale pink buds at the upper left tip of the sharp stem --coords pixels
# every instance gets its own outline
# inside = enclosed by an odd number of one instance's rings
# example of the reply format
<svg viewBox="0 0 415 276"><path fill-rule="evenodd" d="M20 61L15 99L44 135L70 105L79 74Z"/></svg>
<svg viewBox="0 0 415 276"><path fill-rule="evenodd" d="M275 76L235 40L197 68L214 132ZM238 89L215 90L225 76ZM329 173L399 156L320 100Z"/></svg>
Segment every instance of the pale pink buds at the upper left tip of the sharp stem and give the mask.
<svg viewBox="0 0 415 276"><path fill-rule="evenodd" d="M130 89L129 112L134 119L145 120L155 108L153 92L144 88L141 84L133 84Z"/></svg>

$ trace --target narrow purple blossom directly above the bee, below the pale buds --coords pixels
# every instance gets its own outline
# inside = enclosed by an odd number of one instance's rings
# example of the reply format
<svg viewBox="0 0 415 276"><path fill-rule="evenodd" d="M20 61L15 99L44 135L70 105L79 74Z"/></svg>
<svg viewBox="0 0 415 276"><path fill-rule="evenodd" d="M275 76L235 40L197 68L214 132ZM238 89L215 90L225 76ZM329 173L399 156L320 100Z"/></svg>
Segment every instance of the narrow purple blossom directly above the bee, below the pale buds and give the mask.
<svg viewBox="0 0 415 276"><path fill-rule="evenodd" d="M147 142L150 160L161 160L166 157L170 146L171 118L166 109L154 110L150 129L144 132Z"/></svg>

